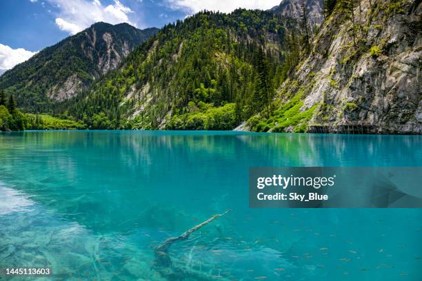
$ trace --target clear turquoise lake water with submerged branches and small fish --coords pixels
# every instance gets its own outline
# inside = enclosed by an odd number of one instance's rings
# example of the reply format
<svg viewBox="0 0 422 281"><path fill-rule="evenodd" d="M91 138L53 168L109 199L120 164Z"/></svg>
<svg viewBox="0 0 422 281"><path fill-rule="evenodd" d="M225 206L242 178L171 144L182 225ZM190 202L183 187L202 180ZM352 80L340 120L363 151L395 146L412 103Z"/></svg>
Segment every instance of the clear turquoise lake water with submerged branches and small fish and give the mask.
<svg viewBox="0 0 422 281"><path fill-rule="evenodd" d="M174 243L173 263L215 280L422 280L422 209L250 209L249 167L289 166L420 167L422 137L2 133L0 268L166 280L154 248L232 209Z"/></svg>

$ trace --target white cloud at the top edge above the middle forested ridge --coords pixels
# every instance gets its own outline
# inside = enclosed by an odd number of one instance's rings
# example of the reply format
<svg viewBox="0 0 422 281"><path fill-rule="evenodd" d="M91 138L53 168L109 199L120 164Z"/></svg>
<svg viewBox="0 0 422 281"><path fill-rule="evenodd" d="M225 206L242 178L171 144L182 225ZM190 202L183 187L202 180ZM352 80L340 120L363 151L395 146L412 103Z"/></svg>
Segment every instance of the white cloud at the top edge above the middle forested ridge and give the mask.
<svg viewBox="0 0 422 281"><path fill-rule="evenodd" d="M165 0L174 10L200 12L212 10L232 12L237 8L268 10L280 4L281 0Z"/></svg>

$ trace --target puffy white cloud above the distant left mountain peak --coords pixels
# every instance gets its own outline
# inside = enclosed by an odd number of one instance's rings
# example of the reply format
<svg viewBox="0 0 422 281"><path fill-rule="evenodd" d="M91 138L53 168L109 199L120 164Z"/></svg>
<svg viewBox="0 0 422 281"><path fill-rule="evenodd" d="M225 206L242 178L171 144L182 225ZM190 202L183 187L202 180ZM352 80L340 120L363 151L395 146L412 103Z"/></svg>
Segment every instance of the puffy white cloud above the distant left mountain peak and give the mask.
<svg viewBox="0 0 422 281"><path fill-rule="evenodd" d="M98 21L112 24L129 23L136 26L129 19L133 11L119 0L114 0L114 4L108 6L103 6L100 0L48 1L59 9L56 25L69 34L76 34Z"/></svg>

